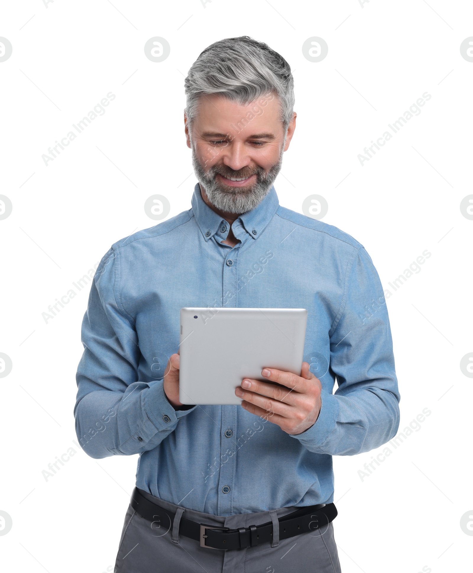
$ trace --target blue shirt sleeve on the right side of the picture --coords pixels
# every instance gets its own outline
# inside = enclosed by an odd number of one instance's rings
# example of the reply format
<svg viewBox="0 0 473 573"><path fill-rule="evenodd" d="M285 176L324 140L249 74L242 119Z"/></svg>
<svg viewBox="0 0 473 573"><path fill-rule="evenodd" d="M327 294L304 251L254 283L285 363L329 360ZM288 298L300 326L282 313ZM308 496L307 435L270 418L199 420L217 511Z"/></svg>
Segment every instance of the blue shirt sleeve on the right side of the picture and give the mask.
<svg viewBox="0 0 473 573"><path fill-rule="evenodd" d="M364 248L350 261L344 300L330 336L338 388L322 390L317 422L294 435L311 452L352 456L396 435L400 395L383 287Z"/></svg>

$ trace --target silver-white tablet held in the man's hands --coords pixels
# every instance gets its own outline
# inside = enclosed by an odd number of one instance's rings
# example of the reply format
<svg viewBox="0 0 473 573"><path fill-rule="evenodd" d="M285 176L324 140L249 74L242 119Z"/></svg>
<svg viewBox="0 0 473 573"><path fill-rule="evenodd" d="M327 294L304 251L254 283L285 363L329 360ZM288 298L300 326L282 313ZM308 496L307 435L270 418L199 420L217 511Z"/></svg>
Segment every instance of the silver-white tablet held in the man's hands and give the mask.
<svg viewBox="0 0 473 573"><path fill-rule="evenodd" d="M241 404L243 378L265 367L301 374L305 308L182 308L179 401Z"/></svg>

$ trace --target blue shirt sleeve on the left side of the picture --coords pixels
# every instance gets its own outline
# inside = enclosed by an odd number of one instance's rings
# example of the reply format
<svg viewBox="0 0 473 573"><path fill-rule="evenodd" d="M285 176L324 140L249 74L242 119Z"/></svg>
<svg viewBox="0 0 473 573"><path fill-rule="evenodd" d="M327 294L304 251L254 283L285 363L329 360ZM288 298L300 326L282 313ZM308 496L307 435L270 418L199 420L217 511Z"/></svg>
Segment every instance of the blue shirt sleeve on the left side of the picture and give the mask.
<svg viewBox="0 0 473 573"><path fill-rule="evenodd" d="M192 411L171 406L163 379L138 379L141 352L133 317L116 293L117 257L111 248L101 260L82 321L74 418L77 439L93 458L151 450Z"/></svg>

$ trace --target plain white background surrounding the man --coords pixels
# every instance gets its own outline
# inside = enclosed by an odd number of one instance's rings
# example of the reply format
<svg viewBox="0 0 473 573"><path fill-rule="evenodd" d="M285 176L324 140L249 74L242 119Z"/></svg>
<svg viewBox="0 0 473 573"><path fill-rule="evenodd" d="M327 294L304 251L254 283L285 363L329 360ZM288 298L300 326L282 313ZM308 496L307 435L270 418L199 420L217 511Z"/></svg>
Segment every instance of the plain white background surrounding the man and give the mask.
<svg viewBox="0 0 473 573"><path fill-rule="evenodd" d="M183 130L183 81L216 40L267 42L294 72L297 129L275 183L280 203L328 201L324 221L360 241L385 289L401 392L402 430L431 415L368 477L376 452L334 459L334 522L344 573L470 571L473 379L460 360L471 338L471 234L460 212L472 194L473 36L470 2L442 0L129 0L3 3L0 36L2 569L101 573L115 563L137 456L93 460L73 444L75 372L89 286L45 323L42 312L137 229L152 194L190 208L195 185ZM162 36L167 60L144 54ZM307 38L329 46L321 62ZM431 99L363 166L357 155L422 96ZM116 99L61 155L41 158L108 92ZM421 272L388 282L425 250ZM50 462L76 454L48 481ZM382 450L383 448L381 448ZM341 498L341 499L340 499ZM340 501L338 501L340 500ZM426 567L427 566L427 567Z"/></svg>

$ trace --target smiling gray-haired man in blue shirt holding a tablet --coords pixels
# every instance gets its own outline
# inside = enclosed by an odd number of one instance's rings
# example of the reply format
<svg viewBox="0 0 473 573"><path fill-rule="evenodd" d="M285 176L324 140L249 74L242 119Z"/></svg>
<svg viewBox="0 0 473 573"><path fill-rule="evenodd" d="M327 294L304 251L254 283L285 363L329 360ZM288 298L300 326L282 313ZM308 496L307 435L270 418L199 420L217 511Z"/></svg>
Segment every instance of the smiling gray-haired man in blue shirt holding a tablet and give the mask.
<svg viewBox="0 0 473 573"><path fill-rule="evenodd" d="M185 85L192 209L112 246L82 324L77 437L94 458L140 454L115 571L338 573L332 456L399 425L383 288L360 243L279 206L284 58L228 38ZM242 407L182 405L182 307L306 308L301 375L242 380Z"/></svg>

